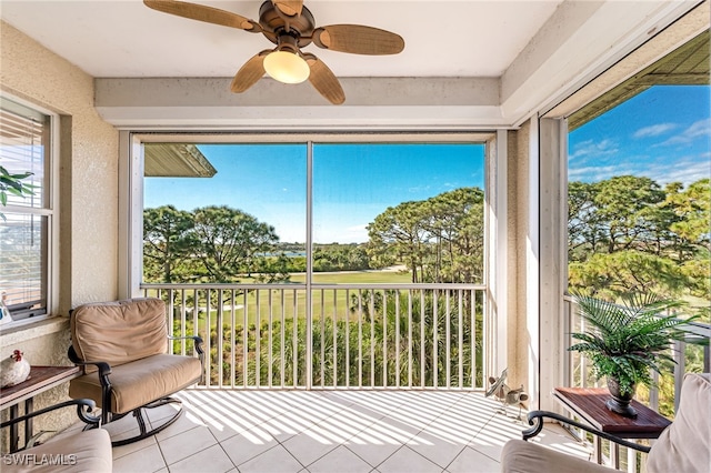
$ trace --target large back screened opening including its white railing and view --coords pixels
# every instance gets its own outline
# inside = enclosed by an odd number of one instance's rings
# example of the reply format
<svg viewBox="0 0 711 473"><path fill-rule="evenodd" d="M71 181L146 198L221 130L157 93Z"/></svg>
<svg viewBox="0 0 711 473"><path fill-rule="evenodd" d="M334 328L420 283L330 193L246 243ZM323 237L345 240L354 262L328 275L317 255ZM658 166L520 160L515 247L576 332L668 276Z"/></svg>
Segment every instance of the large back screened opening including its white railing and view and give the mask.
<svg viewBox="0 0 711 473"><path fill-rule="evenodd" d="M209 341L207 385L483 385L499 140L143 138L142 187L126 182L142 249L126 259L142 276L130 294L166 300L173 333Z"/></svg>

